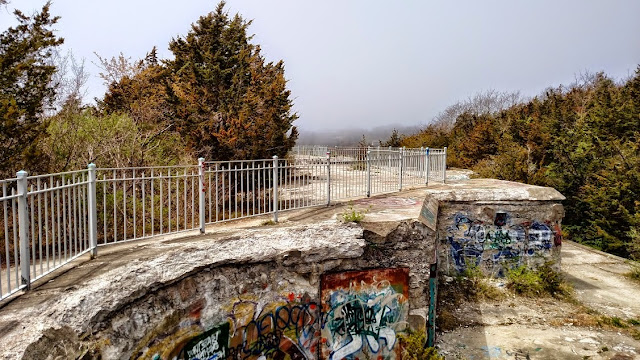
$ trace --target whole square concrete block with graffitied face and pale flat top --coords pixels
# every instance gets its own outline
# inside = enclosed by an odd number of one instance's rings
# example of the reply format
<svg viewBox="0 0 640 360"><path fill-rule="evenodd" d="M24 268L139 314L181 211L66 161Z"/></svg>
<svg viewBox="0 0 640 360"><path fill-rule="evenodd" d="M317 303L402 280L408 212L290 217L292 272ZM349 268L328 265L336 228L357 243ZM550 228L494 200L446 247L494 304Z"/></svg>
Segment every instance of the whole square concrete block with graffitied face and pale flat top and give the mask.
<svg viewBox="0 0 640 360"><path fill-rule="evenodd" d="M563 199L551 188L478 179L430 191L420 219L436 230L440 273L477 267L502 277L521 265L559 265Z"/></svg>

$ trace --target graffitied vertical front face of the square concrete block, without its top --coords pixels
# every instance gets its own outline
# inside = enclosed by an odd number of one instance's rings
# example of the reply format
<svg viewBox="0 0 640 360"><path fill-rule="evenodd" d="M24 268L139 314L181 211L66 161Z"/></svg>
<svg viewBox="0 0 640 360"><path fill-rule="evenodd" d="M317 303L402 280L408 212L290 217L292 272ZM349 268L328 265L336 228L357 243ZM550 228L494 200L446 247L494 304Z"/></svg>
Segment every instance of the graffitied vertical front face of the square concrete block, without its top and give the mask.
<svg viewBox="0 0 640 360"><path fill-rule="evenodd" d="M452 274L476 266L501 277L520 265L559 261L562 214L562 205L549 202L444 202L438 215L440 267Z"/></svg>

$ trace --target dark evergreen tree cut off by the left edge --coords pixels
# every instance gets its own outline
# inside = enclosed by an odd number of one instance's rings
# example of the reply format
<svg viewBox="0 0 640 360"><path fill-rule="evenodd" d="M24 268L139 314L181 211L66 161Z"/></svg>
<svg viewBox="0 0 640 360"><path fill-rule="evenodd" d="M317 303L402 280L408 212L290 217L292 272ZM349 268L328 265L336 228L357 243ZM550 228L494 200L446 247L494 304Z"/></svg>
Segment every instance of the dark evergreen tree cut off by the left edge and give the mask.
<svg viewBox="0 0 640 360"><path fill-rule="evenodd" d="M14 176L20 168L43 169L38 140L46 129L44 112L51 108L56 71L49 58L62 44L52 26L58 17L49 13L50 3L39 13L14 12L18 25L0 34L0 175Z"/></svg>

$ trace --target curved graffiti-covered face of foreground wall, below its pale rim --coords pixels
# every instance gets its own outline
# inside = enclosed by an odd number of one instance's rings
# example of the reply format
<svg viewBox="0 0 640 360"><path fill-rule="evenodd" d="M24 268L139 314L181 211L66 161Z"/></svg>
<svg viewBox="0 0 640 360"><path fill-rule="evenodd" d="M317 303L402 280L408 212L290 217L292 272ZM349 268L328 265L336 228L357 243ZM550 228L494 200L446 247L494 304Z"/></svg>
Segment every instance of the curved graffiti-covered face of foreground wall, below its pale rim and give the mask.
<svg viewBox="0 0 640 360"><path fill-rule="evenodd" d="M103 359L399 358L398 335L425 326L433 232L405 221L357 237L343 253L291 249L154 284L91 318L81 342Z"/></svg>

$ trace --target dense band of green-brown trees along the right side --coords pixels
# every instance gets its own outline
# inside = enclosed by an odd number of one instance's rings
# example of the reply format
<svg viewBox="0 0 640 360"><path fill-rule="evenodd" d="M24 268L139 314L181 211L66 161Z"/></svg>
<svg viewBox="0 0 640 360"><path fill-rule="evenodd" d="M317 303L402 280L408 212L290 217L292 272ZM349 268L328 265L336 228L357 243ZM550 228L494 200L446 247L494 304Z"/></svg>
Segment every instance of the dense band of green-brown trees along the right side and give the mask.
<svg viewBox="0 0 640 360"><path fill-rule="evenodd" d="M622 82L587 74L530 100L499 103L456 104L452 121L401 143L448 146L449 166L482 177L554 187L567 197L570 239L640 260L640 66Z"/></svg>

